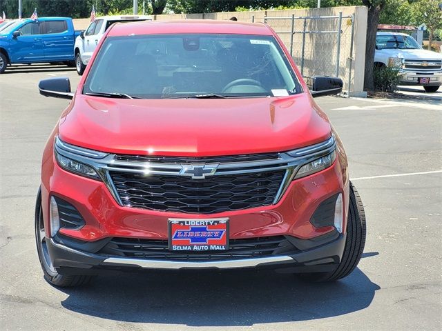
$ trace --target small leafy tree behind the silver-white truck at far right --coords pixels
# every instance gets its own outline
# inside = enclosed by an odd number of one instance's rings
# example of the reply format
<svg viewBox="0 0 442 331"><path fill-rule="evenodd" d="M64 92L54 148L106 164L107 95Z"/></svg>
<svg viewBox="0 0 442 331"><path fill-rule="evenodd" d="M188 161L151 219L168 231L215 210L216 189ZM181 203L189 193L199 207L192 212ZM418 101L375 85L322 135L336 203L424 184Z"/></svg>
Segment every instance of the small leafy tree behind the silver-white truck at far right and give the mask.
<svg viewBox="0 0 442 331"><path fill-rule="evenodd" d="M430 31L428 38L429 50L431 50L434 32L442 29L442 9L439 8L439 4L439 0L420 0L416 3L415 7L417 21L425 23Z"/></svg>

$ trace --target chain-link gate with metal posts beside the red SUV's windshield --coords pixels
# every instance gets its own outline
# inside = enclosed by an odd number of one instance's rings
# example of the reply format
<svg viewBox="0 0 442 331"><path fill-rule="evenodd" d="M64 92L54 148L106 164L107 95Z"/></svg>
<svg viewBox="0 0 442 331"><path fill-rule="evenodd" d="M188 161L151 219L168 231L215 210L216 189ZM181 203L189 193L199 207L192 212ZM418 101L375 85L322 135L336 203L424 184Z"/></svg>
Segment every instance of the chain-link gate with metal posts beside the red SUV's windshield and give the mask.
<svg viewBox="0 0 442 331"><path fill-rule="evenodd" d="M254 21L254 17L252 17ZM347 95L352 84L354 14L343 16L268 17L269 24L289 49L302 77L340 77Z"/></svg>

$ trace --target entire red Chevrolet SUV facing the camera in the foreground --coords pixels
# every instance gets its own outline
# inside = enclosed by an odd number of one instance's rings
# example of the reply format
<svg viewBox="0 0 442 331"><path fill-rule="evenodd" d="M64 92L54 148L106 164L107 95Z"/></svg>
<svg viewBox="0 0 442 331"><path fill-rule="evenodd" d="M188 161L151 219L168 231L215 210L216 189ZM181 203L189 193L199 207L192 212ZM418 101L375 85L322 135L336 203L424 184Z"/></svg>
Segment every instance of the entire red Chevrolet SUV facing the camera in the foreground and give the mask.
<svg viewBox="0 0 442 331"><path fill-rule="evenodd" d="M265 24L108 29L43 154L35 210L46 279L110 269L273 268L347 276L365 243L343 145Z"/></svg>

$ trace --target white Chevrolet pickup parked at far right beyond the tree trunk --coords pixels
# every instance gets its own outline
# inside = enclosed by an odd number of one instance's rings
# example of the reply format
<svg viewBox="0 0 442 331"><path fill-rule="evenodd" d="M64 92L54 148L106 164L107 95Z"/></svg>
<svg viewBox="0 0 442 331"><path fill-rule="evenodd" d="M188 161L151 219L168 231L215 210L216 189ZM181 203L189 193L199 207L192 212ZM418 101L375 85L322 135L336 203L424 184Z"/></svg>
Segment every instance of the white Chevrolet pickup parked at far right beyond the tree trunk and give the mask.
<svg viewBox="0 0 442 331"><path fill-rule="evenodd" d="M408 34L378 32L374 65L398 68L399 85L423 86L426 92L442 85L442 54L423 50Z"/></svg>

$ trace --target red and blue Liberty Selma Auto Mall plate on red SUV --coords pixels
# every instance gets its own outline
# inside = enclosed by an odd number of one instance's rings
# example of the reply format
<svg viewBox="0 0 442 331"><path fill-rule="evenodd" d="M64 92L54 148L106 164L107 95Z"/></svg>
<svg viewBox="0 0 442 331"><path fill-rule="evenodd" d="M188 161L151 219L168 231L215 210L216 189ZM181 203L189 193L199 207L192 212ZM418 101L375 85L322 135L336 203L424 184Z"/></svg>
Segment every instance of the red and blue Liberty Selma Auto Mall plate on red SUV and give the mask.
<svg viewBox="0 0 442 331"><path fill-rule="evenodd" d="M229 218L227 217L169 219L167 228L168 247L172 252L229 250Z"/></svg>

